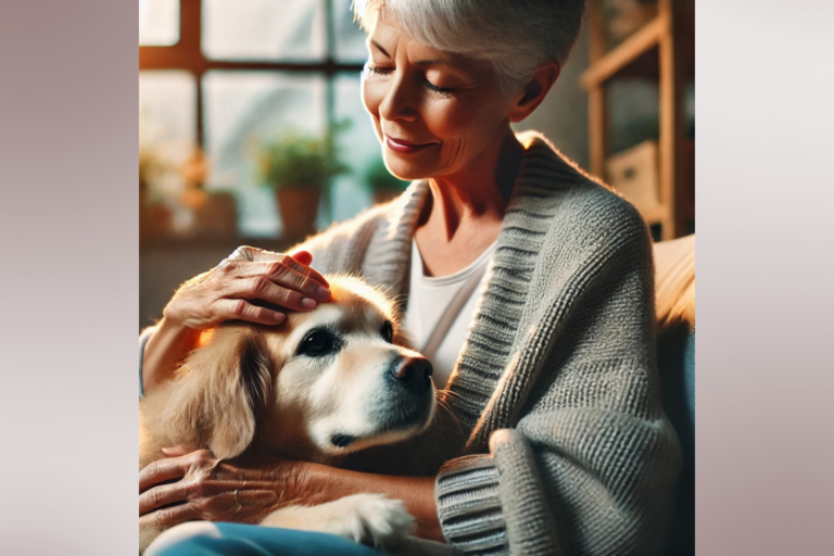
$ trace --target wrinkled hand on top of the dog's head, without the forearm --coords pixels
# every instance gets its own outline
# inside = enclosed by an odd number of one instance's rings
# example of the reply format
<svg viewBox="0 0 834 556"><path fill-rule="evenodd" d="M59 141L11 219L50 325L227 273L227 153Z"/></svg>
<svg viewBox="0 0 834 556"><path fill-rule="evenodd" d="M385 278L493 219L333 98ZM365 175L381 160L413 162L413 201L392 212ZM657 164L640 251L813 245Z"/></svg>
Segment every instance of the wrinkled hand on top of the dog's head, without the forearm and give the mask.
<svg viewBox="0 0 834 556"><path fill-rule="evenodd" d="M250 247L238 248L216 268L184 283L163 311L165 319L192 330L224 320L277 325L283 311L261 307L264 300L290 311L311 311L330 299L329 283L311 268L306 251L292 255Z"/></svg>

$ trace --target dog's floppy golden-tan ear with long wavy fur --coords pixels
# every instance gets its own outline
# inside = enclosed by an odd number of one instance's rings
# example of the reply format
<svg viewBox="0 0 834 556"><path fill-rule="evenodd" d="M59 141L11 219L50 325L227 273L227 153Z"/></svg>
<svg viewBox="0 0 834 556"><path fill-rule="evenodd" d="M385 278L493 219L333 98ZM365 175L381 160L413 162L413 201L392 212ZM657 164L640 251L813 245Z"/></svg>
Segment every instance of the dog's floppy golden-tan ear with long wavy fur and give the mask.
<svg viewBox="0 0 834 556"><path fill-rule="evenodd" d="M182 366L185 375L166 407L170 430L193 431L191 443L207 446L218 458L242 454L269 399L270 369L260 333L244 327L217 329Z"/></svg>

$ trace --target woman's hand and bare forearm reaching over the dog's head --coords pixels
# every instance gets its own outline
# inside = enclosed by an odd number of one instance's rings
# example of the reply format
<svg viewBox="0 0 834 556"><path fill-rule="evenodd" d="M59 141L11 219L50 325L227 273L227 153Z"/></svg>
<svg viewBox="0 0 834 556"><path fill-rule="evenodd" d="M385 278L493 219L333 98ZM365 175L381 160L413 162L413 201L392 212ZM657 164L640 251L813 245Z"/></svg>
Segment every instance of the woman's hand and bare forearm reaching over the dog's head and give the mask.
<svg viewBox="0 0 834 556"><path fill-rule="evenodd" d="M184 283L144 348L144 391L172 376L197 346L202 330L232 319L278 325L287 318L286 311L311 311L328 301L329 283L309 267L312 261L306 251L285 255L242 247L216 268ZM262 307L255 300L281 308Z"/></svg>

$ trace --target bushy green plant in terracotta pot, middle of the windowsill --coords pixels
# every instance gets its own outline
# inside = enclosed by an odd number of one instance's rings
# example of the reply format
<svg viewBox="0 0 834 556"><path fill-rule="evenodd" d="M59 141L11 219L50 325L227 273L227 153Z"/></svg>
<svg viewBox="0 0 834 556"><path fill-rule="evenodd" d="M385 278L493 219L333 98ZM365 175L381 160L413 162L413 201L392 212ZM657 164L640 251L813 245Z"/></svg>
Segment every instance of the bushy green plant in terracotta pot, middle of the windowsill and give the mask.
<svg viewBox="0 0 834 556"><path fill-rule="evenodd" d="M264 185L276 192L283 233L301 238L315 232L321 191L346 166L336 161L330 136L287 134L261 151Z"/></svg>

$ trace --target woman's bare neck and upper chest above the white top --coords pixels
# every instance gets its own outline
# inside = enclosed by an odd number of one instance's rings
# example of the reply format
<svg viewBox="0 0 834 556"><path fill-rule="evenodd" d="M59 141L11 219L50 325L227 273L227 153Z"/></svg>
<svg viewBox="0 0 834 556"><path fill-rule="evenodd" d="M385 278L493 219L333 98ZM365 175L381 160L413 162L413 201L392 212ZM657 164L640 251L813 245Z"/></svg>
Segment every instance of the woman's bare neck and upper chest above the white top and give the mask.
<svg viewBox="0 0 834 556"><path fill-rule="evenodd" d="M429 179L415 232L427 275L465 268L497 239L523 153L507 125L464 169Z"/></svg>

